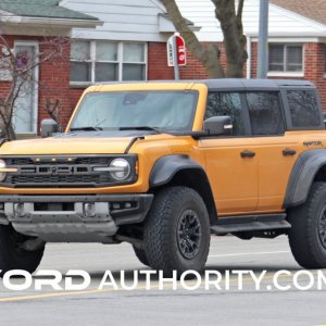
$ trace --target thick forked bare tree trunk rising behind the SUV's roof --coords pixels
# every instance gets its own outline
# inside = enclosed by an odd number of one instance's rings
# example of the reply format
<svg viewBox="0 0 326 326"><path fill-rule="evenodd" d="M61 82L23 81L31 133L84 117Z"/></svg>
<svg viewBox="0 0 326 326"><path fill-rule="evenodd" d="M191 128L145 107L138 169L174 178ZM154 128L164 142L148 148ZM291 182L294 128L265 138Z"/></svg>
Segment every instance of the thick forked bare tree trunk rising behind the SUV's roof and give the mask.
<svg viewBox="0 0 326 326"><path fill-rule="evenodd" d="M216 45L201 43L183 17L176 0L161 0L176 30L185 38L187 48L203 64L210 78L243 76L243 64L248 58L243 36L242 11L244 0L211 0L215 5L215 16L220 21L224 36L226 67L222 66ZM237 5L236 5L237 3Z"/></svg>

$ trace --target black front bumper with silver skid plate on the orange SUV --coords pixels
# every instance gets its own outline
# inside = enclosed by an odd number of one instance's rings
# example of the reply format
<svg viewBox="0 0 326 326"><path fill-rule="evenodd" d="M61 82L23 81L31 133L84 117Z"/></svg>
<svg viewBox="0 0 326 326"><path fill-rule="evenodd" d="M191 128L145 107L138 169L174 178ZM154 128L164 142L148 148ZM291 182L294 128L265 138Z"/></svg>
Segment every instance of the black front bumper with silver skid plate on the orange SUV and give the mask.
<svg viewBox="0 0 326 326"><path fill-rule="evenodd" d="M0 224L48 242L112 242L118 226L143 222L153 195L0 196Z"/></svg>

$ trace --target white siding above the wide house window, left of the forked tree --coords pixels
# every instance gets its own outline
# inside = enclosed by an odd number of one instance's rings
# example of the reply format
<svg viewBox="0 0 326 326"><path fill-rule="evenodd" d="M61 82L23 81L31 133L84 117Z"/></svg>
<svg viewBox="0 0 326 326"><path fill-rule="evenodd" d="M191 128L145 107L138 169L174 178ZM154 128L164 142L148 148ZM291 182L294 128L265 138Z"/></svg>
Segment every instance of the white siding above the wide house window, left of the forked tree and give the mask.
<svg viewBox="0 0 326 326"><path fill-rule="evenodd" d="M104 23L93 30L75 28L75 38L135 41L165 41L167 38L159 30L159 14L164 13L164 9L158 0L64 0L61 5Z"/></svg>

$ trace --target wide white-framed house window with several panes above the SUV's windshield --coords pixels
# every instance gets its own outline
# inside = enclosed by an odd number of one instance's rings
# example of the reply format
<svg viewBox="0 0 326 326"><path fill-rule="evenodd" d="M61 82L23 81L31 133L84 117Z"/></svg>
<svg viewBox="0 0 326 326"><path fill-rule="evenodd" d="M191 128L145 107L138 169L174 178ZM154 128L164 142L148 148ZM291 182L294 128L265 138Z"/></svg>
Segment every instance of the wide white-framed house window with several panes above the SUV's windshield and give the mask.
<svg viewBox="0 0 326 326"><path fill-rule="evenodd" d="M71 48L71 83L145 80L147 45L75 40Z"/></svg>

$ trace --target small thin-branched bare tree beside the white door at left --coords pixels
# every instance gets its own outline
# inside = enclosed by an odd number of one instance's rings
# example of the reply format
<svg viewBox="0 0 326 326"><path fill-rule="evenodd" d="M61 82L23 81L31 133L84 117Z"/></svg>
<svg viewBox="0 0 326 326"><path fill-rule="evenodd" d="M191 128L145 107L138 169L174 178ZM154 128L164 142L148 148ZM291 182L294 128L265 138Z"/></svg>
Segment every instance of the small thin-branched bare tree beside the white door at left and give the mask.
<svg viewBox="0 0 326 326"><path fill-rule="evenodd" d="M33 78L33 72L45 62L51 62L63 57L64 49L68 46L68 38L54 37L43 38L39 42L39 48L43 49L35 57L30 58L27 52L15 53L7 39L0 35L0 73L7 75L8 89L0 95L0 129L1 137L15 139L13 116L20 97L23 97L23 89L27 83L38 83ZM4 82L0 82L4 83ZM46 85L38 85L46 87ZM46 110L50 116L55 116L59 110L59 100L47 100ZM54 106L53 106L54 105ZM55 116L58 120L58 115Z"/></svg>

